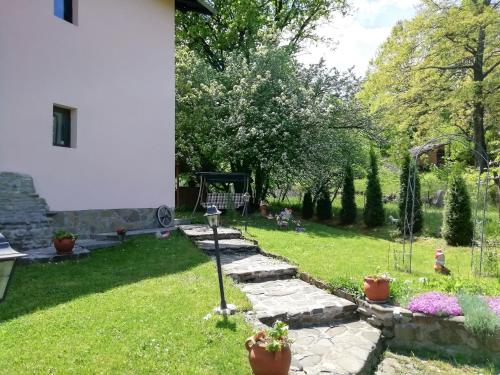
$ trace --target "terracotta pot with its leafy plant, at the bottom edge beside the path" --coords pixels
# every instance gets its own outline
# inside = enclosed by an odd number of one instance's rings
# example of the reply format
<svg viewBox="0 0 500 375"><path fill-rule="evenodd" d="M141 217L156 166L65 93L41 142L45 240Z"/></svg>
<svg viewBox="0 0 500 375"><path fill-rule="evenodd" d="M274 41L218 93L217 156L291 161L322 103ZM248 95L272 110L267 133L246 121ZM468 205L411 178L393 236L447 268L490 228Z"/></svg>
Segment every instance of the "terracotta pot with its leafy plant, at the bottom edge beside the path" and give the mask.
<svg viewBox="0 0 500 375"><path fill-rule="evenodd" d="M272 328L249 337L245 346L255 375L287 375L292 362L288 325L276 321Z"/></svg>

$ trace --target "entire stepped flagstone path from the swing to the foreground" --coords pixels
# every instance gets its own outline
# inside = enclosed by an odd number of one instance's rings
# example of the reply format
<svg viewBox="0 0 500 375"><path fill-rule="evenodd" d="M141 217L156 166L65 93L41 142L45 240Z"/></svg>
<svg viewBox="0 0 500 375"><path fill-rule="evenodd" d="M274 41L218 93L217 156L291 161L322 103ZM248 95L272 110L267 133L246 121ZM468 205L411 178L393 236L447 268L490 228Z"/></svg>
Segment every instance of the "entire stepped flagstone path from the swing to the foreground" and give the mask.
<svg viewBox="0 0 500 375"><path fill-rule="evenodd" d="M213 254L207 225L179 229L203 251ZM382 350L381 332L357 318L356 304L294 278L297 267L266 257L238 230L219 228L223 272L239 282L254 312L256 327L287 322L292 344L290 374L369 374Z"/></svg>

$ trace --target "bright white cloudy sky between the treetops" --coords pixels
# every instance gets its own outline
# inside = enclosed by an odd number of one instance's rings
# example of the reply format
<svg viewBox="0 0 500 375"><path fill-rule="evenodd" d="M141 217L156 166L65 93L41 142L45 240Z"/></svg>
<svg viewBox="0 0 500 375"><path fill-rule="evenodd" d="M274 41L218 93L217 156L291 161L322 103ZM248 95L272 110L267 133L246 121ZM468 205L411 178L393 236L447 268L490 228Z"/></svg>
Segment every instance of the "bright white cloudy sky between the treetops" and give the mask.
<svg viewBox="0 0 500 375"><path fill-rule="evenodd" d="M323 57L329 67L346 70L354 66L355 73L363 76L396 22L416 13L418 0L352 0L350 4L349 15L335 16L318 28L318 35L333 40L307 45L300 61L317 63Z"/></svg>

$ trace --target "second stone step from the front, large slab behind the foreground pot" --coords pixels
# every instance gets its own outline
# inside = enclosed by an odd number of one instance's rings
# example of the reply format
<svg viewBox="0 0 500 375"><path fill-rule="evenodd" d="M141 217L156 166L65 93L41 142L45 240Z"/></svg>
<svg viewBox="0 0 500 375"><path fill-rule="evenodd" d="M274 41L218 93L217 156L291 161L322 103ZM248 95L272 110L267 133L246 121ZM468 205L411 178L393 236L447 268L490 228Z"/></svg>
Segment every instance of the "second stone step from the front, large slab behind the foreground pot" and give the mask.
<svg viewBox="0 0 500 375"><path fill-rule="evenodd" d="M356 304L299 279L244 284L257 319L267 325L276 320L301 328L330 324L355 317Z"/></svg>

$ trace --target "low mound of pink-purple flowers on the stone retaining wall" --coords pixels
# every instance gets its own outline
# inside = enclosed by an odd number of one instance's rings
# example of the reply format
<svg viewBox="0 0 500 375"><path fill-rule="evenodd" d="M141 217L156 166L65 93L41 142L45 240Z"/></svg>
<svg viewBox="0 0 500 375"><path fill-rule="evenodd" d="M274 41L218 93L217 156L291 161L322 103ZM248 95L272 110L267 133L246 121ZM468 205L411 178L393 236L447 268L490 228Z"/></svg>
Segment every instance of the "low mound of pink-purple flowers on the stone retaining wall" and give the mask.
<svg viewBox="0 0 500 375"><path fill-rule="evenodd" d="M462 313L456 296L438 292L429 292L416 296L408 304L408 309L438 316L457 316Z"/></svg>

